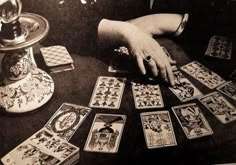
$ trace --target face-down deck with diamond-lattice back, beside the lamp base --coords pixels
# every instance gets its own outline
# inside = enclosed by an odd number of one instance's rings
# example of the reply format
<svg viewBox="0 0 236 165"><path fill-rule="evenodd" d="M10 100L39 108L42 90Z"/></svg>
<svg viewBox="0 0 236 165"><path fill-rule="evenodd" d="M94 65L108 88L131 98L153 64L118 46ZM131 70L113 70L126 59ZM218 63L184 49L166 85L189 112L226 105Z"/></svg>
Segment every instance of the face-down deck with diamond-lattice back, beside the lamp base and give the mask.
<svg viewBox="0 0 236 165"><path fill-rule="evenodd" d="M74 69L73 59L64 46L44 47L40 51L51 73Z"/></svg>

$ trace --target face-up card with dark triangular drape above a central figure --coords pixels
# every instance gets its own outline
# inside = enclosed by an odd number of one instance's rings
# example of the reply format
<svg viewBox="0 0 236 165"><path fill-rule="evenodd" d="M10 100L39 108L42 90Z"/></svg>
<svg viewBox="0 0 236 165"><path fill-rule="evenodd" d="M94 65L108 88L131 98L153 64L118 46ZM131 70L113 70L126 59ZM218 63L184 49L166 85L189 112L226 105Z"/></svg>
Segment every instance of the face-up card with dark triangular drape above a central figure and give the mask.
<svg viewBox="0 0 236 165"><path fill-rule="evenodd" d="M126 122L125 115L96 114L84 150L116 153Z"/></svg>

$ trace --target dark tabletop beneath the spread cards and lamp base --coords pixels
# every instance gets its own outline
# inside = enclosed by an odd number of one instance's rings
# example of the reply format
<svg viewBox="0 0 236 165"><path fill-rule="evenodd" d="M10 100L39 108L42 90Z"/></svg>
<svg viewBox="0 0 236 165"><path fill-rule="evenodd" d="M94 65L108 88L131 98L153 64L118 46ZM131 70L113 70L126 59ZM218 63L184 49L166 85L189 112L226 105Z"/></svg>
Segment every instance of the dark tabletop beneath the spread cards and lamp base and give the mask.
<svg viewBox="0 0 236 165"><path fill-rule="evenodd" d="M52 30L52 29L51 29ZM68 38L69 39L69 38ZM235 37L233 38L235 42ZM46 39L47 40L47 39ZM168 38L158 38L159 43L165 46L173 58L177 60L178 67L190 61L198 60L223 78L228 80L228 75L236 65L236 56L231 61L217 60L204 56L206 44L201 42L178 43ZM46 42L46 41L45 41ZM35 45L35 59L38 67L46 69L39 48ZM48 44L48 43L47 43ZM55 43L49 43L55 45ZM236 47L233 48L233 55ZM51 100L39 109L24 114L0 113L0 157L41 129L57 108L64 103L74 103L87 106L93 92L98 76L123 76L128 82L138 78L137 74L113 74L108 73L110 51L97 53L77 52L76 47L69 48L74 59L73 71L51 74L55 82L55 93ZM204 94L212 90L186 75ZM120 109L107 110L93 108L70 142L80 147L79 165L126 165L126 164L218 164L236 162L236 121L229 124L221 124L208 110L197 100L205 117L211 125L214 134L207 137L188 140L182 131L177 119L171 111L171 106L182 104L177 97L164 84L160 84L165 107L160 110L169 110L178 145L160 149L147 149L140 112L155 111L157 109L136 110L130 83L126 83ZM230 100L233 105L236 103ZM159 109L158 109L159 110ZM103 154L83 151L92 121L97 113L124 114L127 121L124 127L118 153Z"/></svg>

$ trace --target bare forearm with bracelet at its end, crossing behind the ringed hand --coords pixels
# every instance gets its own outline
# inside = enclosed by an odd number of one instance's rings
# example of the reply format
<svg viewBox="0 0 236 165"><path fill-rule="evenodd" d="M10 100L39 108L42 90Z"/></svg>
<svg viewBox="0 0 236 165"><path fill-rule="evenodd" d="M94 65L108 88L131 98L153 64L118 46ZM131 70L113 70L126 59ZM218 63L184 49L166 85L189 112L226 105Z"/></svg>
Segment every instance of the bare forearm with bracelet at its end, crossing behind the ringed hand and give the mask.
<svg viewBox="0 0 236 165"><path fill-rule="evenodd" d="M152 14L127 22L137 26L149 35L163 35L175 33L183 16L180 14Z"/></svg>

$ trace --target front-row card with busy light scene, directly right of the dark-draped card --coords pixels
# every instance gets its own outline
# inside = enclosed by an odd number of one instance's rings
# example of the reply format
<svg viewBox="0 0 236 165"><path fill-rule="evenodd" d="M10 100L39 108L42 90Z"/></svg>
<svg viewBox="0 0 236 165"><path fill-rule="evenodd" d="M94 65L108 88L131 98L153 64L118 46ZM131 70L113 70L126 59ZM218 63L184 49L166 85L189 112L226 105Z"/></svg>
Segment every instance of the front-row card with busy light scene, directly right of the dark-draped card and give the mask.
<svg viewBox="0 0 236 165"><path fill-rule="evenodd" d="M176 146L176 138L168 111L140 114L147 148Z"/></svg>

